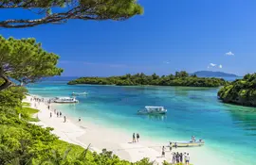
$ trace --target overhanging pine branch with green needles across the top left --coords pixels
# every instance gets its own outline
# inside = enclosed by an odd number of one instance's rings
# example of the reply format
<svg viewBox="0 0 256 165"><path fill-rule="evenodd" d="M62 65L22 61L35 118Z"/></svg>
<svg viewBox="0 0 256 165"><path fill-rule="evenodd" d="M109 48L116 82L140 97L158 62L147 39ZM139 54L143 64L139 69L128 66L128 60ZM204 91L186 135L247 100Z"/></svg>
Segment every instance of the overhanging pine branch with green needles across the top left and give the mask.
<svg viewBox="0 0 256 165"><path fill-rule="evenodd" d="M143 12L137 0L0 0L0 8L22 8L41 17L0 21L6 28L63 24L70 19L122 21Z"/></svg>

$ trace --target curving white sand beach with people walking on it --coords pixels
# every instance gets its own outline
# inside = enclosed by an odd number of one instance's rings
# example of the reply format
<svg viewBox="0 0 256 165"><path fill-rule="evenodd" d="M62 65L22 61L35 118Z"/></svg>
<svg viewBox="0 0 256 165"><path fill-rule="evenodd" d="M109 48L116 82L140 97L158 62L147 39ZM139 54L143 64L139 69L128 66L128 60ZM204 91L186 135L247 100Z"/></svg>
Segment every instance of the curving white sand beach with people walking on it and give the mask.
<svg viewBox="0 0 256 165"><path fill-rule="evenodd" d="M149 157L152 161L155 161L155 164L161 164L164 160L168 162L172 161L172 154L168 147L166 147L166 157L161 157L161 147L163 145L167 146L168 141L163 143L141 138L139 142L132 143L132 135L128 135L125 131L86 121L78 122L72 120L72 117L66 116L64 113L62 117L57 117L57 115L54 114L54 108L52 108L53 104L51 104L51 108L48 110L45 103L41 102L39 104L30 101L30 98L31 96L27 96L24 102L29 102L31 107L40 110L36 114L40 122L33 124L54 128L52 133L57 135L60 140L78 144L84 148L90 144L90 150L98 153L105 148L108 151L113 151L113 153L120 158L132 162L140 160L143 157ZM61 109L58 109L58 111L61 111ZM50 112L52 113L51 118ZM67 118L66 123L64 123L64 116ZM143 135L141 137L143 137ZM223 157L214 156L204 146L195 148L177 148L173 149L172 152L190 153L191 163L193 165L230 164L230 162L225 162Z"/></svg>

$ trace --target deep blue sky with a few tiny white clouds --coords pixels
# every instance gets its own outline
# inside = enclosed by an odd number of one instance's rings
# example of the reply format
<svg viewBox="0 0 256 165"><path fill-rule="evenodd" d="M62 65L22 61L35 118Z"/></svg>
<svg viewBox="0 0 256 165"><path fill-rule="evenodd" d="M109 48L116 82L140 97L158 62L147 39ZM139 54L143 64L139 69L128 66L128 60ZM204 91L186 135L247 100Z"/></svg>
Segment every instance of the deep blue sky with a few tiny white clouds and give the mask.
<svg viewBox="0 0 256 165"><path fill-rule="evenodd" d="M35 38L59 55L64 76L256 71L255 0L138 0L143 15L123 22L70 20L63 25L0 28L0 34ZM0 20L28 18L1 9Z"/></svg>

